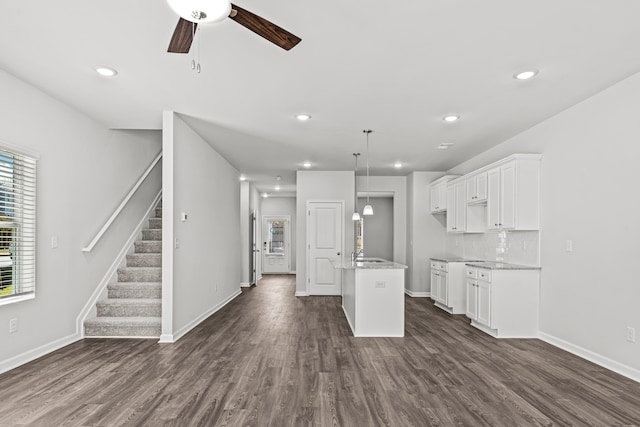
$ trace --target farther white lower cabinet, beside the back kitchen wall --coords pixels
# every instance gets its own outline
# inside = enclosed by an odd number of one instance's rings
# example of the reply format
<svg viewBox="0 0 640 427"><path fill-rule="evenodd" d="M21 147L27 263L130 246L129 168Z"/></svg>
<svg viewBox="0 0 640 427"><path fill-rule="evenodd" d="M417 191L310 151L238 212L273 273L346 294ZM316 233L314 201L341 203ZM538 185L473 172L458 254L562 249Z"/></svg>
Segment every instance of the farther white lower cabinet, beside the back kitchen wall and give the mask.
<svg viewBox="0 0 640 427"><path fill-rule="evenodd" d="M431 260L431 299L438 308L463 314L466 307L464 262Z"/></svg>

